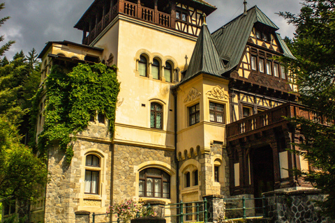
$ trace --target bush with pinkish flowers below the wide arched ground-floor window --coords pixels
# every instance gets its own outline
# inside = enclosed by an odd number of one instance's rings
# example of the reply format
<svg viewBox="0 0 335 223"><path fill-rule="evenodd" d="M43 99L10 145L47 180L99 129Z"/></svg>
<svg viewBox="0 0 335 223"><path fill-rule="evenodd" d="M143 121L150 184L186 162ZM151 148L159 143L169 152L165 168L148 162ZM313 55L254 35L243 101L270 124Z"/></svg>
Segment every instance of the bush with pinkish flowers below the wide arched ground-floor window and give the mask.
<svg viewBox="0 0 335 223"><path fill-rule="evenodd" d="M107 215L110 215L110 217L115 215L115 217L119 217L120 222L128 223L135 217L156 217L157 213L150 207L145 206L142 200L136 201L133 199L126 199L110 206L107 210Z"/></svg>

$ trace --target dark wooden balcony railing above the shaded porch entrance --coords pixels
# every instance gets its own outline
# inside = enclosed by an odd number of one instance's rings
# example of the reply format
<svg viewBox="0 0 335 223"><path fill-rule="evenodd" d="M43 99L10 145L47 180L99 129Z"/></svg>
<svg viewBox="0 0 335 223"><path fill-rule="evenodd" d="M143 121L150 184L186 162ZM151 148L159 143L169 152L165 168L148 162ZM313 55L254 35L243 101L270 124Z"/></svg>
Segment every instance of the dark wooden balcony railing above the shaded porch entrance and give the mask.
<svg viewBox="0 0 335 223"><path fill-rule="evenodd" d="M304 106L292 102L285 103L278 107L274 107L265 112L254 114L234 121L226 126L228 141L234 141L247 137L251 134L256 134L271 128L276 128L280 125L285 125L288 121L284 117L304 117L307 119L315 118L311 112L304 110Z"/></svg>

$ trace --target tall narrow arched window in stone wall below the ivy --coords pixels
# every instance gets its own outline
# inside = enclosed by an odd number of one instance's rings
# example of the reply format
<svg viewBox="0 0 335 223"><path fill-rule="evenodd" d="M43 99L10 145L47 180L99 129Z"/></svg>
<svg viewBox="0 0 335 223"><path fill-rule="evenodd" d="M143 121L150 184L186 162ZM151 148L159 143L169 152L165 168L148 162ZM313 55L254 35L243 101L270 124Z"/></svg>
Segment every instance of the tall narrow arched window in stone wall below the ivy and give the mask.
<svg viewBox="0 0 335 223"><path fill-rule="evenodd" d="M100 159L96 155L87 155L85 165L85 193L98 194Z"/></svg>

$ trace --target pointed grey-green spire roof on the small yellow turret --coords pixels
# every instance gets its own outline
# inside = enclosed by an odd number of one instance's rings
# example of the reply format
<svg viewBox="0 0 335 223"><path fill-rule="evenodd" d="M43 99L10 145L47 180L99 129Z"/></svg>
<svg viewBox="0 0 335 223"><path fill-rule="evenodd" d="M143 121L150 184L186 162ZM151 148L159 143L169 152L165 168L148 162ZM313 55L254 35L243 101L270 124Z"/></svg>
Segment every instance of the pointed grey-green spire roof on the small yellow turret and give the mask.
<svg viewBox="0 0 335 223"><path fill-rule="evenodd" d="M219 71L222 69L223 61L211 38L207 24L203 24L182 82L200 73L221 77Z"/></svg>

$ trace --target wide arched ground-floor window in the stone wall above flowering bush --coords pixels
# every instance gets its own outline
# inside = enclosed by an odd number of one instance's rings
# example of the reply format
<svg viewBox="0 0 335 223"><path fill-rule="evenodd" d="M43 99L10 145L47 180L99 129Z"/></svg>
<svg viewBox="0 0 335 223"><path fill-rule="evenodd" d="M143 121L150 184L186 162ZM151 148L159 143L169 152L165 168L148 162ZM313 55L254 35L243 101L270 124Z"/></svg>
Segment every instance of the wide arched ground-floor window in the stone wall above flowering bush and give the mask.
<svg viewBox="0 0 335 223"><path fill-rule="evenodd" d="M140 171L140 197L170 198L170 175L157 168Z"/></svg>

